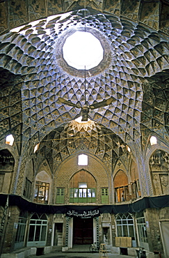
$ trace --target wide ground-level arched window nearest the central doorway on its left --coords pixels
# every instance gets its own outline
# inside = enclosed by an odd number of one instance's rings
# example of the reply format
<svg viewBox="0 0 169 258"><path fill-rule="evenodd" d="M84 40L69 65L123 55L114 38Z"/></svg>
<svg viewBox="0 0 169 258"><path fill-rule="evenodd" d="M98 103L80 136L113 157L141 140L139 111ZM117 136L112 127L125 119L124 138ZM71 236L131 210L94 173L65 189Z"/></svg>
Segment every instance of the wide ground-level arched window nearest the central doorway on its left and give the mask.
<svg viewBox="0 0 169 258"><path fill-rule="evenodd" d="M31 216L29 224L29 237L27 246L46 245L47 238L47 216L42 214L39 216L34 213Z"/></svg>

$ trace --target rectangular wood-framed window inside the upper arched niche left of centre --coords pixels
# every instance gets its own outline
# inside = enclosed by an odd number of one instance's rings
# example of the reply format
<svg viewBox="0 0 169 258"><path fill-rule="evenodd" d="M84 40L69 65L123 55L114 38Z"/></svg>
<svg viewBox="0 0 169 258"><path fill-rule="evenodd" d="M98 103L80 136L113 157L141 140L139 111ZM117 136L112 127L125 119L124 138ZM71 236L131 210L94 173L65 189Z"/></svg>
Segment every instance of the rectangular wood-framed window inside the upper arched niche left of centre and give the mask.
<svg viewBox="0 0 169 258"><path fill-rule="evenodd" d="M35 202L47 204L49 199L49 183L36 181L35 182Z"/></svg>

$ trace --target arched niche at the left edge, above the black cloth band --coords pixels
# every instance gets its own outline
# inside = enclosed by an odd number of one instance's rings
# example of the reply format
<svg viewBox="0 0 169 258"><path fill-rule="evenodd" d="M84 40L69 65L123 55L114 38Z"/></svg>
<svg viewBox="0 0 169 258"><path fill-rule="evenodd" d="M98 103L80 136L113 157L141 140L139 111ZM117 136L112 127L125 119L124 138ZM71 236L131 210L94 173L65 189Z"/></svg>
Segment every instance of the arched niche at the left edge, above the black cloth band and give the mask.
<svg viewBox="0 0 169 258"><path fill-rule="evenodd" d="M8 149L0 151L0 192L9 193L15 160Z"/></svg>

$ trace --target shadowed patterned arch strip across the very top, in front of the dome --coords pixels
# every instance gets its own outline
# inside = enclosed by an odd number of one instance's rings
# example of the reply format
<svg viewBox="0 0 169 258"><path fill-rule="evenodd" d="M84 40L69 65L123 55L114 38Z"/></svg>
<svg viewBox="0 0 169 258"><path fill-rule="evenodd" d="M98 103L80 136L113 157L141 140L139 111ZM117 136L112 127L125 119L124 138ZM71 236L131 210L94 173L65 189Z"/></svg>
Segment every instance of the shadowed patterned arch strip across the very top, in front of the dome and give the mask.
<svg viewBox="0 0 169 258"><path fill-rule="evenodd" d="M101 13L140 22L169 35L168 0L1 0L0 31L4 32L51 15L77 10L84 5Z"/></svg>

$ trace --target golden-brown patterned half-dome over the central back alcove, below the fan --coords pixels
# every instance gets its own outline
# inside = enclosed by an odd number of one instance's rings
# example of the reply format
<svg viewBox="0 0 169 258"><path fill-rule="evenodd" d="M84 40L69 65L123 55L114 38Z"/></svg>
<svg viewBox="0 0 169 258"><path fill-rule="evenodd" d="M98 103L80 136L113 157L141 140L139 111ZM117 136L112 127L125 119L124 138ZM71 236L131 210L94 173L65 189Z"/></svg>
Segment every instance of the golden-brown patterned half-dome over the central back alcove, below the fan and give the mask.
<svg viewBox="0 0 169 258"><path fill-rule="evenodd" d="M38 162L42 163L46 157L49 165L54 166L51 170L55 171L68 156L77 155L77 152L95 155L109 168L115 165L118 158L126 167L129 166L126 144L111 130L108 133L106 128L94 121L70 121L64 128L49 133L40 142Z"/></svg>

